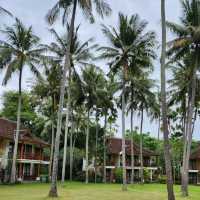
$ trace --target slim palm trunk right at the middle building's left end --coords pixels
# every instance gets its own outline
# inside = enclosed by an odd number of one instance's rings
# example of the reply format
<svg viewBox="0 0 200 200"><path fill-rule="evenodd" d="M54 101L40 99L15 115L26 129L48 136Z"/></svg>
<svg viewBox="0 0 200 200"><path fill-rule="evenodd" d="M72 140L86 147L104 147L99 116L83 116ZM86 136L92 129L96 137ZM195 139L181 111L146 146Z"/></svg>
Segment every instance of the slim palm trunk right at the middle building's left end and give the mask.
<svg viewBox="0 0 200 200"><path fill-rule="evenodd" d="M107 130L107 111L104 118L104 136L103 136L103 182L106 183L106 130Z"/></svg>

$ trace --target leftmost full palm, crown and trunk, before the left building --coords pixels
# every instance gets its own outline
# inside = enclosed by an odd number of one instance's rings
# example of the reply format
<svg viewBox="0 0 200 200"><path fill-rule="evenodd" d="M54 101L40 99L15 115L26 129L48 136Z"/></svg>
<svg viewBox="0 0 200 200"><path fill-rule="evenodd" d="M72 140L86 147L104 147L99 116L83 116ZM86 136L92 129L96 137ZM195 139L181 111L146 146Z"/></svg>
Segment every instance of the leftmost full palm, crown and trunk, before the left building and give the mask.
<svg viewBox="0 0 200 200"><path fill-rule="evenodd" d="M39 38L33 34L32 27L26 28L19 19L16 19L12 27L5 27L2 31L6 36L5 41L0 41L0 65L6 68L6 74L3 84L6 85L13 73L19 72L19 100L17 111L17 129L15 134L15 144L12 161L11 183L16 181L16 159L18 140L20 133L20 115L21 115L21 101L22 101L22 75L23 69L27 65L31 71L39 76L37 69L43 48L38 48Z"/></svg>

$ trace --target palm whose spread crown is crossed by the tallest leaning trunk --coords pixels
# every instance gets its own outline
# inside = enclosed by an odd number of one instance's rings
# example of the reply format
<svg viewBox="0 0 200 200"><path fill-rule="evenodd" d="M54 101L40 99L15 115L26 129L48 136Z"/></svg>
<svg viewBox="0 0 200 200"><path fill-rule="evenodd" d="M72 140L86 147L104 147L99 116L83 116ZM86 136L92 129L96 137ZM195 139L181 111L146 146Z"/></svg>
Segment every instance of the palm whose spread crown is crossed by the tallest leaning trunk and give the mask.
<svg viewBox="0 0 200 200"><path fill-rule="evenodd" d="M71 105L71 68L73 68L73 72L78 75L76 72L76 67L81 67L88 64L92 58L93 54L91 51L96 48L96 45L90 45L93 41L92 38L86 40L85 42L79 41L78 38L78 26L73 33L71 48L70 48L70 62L71 67L68 70L68 95L67 95L67 110L70 109ZM68 27L69 28L69 27ZM63 61L65 57L65 52L67 48L67 36L59 36L59 34L54 30L51 29L50 32L53 34L55 38L55 42L52 42L50 45L43 45L49 52L51 52L57 61ZM66 123L65 123L65 139L64 139L64 154L63 154L63 167L62 167L62 182L65 181L65 168L66 168L66 154L67 154L67 135L68 135L68 121L69 121L70 112L66 112Z"/></svg>

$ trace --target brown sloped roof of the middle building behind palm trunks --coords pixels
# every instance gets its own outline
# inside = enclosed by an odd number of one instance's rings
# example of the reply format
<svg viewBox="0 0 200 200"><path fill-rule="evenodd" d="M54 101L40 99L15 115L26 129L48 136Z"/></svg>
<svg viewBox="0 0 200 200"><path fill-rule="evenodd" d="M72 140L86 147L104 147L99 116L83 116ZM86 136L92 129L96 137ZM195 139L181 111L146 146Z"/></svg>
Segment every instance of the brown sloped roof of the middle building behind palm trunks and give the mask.
<svg viewBox="0 0 200 200"><path fill-rule="evenodd" d="M131 155L131 140L126 140L126 154ZM138 144L133 143L134 154L140 154L140 147ZM107 151L110 154L119 154L122 151L122 139L121 138L108 138L107 139ZM158 156L158 153L143 148L143 156Z"/></svg>

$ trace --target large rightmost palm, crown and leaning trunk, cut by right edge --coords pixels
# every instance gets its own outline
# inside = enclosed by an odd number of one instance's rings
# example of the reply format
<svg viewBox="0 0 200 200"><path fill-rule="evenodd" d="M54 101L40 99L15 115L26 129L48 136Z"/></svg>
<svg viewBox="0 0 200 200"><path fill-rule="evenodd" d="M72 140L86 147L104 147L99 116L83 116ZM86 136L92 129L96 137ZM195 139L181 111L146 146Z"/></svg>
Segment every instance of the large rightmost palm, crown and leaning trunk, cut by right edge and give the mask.
<svg viewBox="0 0 200 200"><path fill-rule="evenodd" d="M170 49L168 55L171 56L172 61L178 61L185 56L190 55L192 62L192 76L189 86L188 108L186 118L186 130L184 141L183 165L182 165L182 179L181 190L183 196L188 196L188 169L189 157L192 143L193 130L193 115L195 106L196 94L196 72L199 70L200 64L200 2L199 0L184 0L182 1L183 16L181 24L167 22L167 26L177 35L173 41L169 42Z"/></svg>

